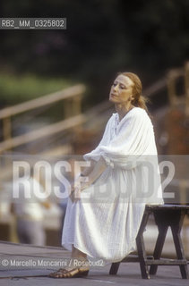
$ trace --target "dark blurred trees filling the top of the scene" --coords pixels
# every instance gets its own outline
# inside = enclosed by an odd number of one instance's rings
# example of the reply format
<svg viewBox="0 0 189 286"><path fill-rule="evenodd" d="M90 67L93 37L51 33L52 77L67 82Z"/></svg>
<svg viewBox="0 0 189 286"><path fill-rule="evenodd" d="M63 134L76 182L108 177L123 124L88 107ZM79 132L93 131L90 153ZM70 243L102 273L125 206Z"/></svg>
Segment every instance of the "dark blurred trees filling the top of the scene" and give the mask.
<svg viewBox="0 0 189 286"><path fill-rule="evenodd" d="M189 51L187 0L4 1L2 17L66 17L66 30L1 31L1 70L62 76L89 85L87 100L107 98L117 71L144 87Z"/></svg>

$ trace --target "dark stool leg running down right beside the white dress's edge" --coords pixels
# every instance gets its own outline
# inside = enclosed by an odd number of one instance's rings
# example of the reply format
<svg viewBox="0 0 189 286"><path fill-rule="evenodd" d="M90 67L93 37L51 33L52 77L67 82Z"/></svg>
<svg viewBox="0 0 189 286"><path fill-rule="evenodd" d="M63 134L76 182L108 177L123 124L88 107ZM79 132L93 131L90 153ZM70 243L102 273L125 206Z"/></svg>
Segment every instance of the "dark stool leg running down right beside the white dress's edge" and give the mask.
<svg viewBox="0 0 189 286"><path fill-rule="evenodd" d="M143 241L143 231L148 222L149 214L150 214L149 212L145 212L143 214L141 227L136 237L136 245L137 245L137 251L138 251L139 262L140 262L141 273L142 273L143 279L150 279L148 265L146 264L146 261L147 261L146 250L145 250L144 241Z"/></svg>

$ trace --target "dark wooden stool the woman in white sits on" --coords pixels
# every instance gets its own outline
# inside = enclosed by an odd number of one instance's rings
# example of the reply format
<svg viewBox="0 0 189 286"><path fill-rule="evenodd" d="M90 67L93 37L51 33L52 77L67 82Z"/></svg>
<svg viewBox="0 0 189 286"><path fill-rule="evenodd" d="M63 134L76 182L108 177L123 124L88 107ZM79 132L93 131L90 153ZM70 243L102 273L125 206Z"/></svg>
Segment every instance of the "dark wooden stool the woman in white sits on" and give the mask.
<svg viewBox="0 0 189 286"><path fill-rule="evenodd" d="M115 275L118 271L121 262L136 262L141 266L141 273L143 279L150 279L150 274L156 274L158 265L179 265L182 278L188 279L187 260L183 243L180 236L185 214L187 214L189 206L184 205L159 205L146 206L142 223L136 237L136 246L138 257L128 256L120 262L111 265L109 274ZM144 247L143 231L148 223L149 215L153 214L155 223L158 225L159 235L154 248L153 257L147 257ZM168 227L170 226L173 240L176 247L177 259L163 259L161 257L162 248L166 239ZM149 271L150 265L150 271Z"/></svg>

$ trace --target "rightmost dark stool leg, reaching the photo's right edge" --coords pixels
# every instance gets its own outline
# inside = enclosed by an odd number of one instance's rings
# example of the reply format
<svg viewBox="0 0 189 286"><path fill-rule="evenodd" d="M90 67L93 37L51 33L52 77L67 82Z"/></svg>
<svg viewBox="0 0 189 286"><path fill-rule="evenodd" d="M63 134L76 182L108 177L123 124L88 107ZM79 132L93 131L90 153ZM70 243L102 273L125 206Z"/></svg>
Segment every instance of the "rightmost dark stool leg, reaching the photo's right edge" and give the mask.
<svg viewBox="0 0 189 286"><path fill-rule="evenodd" d="M180 214L178 223L171 225L171 231L173 234L173 240L175 243L176 255L178 259L185 259L184 247L183 247L183 243L182 243L181 236L180 236L180 231L182 229L184 217L185 217L185 213L182 212L182 214ZM185 265L179 265L179 267L180 267L182 278L188 279L189 274L188 274L188 268L187 268L187 261L185 260Z"/></svg>

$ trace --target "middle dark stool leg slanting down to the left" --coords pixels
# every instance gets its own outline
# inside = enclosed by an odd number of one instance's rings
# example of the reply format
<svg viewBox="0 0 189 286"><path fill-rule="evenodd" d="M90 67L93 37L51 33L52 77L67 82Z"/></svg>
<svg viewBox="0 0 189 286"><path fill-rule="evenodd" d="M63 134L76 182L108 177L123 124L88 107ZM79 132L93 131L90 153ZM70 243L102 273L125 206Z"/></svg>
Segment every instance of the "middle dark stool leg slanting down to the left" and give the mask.
<svg viewBox="0 0 189 286"><path fill-rule="evenodd" d="M159 259L161 256L161 252L163 249L163 245L166 239L166 235L168 232L168 225L163 225L163 226L158 226L159 228L159 236L158 239L156 241L156 246L153 252L153 257L154 259ZM158 265L150 265L150 274L151 275L155 275L157 273L158 270Z"/></svg>

